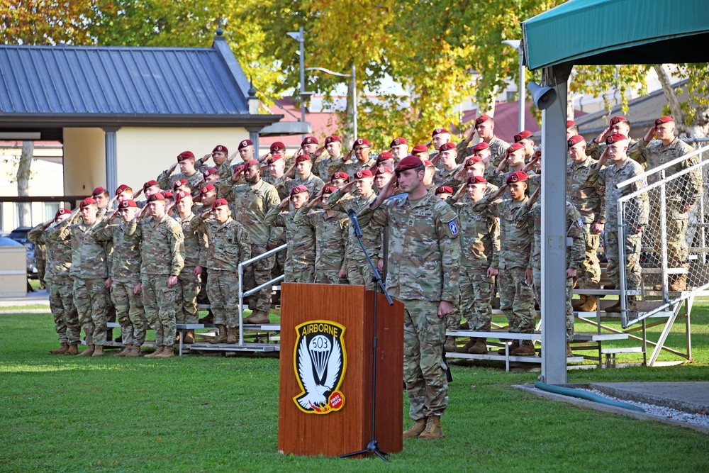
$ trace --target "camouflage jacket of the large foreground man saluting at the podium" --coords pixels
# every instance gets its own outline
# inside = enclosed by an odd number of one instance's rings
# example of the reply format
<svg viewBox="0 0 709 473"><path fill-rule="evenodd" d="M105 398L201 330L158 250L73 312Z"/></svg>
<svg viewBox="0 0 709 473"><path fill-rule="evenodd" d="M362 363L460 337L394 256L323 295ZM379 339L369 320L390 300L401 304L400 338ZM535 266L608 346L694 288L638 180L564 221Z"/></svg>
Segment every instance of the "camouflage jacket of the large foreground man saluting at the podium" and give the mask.
<svg viewBox="0 0 709 473"><path fill-rule="evenodd" d="M411 201L393 197L372 210L359 211L365 226L389 227L391 296L415 301L458 301L460 293L460 234L458 218L444 201L429 192Z"/></svg>

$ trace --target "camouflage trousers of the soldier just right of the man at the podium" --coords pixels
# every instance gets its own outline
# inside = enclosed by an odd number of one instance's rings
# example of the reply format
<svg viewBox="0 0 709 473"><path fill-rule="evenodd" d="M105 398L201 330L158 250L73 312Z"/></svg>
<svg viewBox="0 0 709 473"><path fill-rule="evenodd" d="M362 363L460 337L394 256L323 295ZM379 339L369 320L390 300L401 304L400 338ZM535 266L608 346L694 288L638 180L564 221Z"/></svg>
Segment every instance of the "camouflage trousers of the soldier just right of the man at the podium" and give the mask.
<svg viewBox="0 0 709 473"><path fill-rule="evenodd" d="M486 269L460 267L460 311L470 330L490 330L495 280L487 277L486 272ZM450 329L450 326L447 325L447 328Z"/></svg>

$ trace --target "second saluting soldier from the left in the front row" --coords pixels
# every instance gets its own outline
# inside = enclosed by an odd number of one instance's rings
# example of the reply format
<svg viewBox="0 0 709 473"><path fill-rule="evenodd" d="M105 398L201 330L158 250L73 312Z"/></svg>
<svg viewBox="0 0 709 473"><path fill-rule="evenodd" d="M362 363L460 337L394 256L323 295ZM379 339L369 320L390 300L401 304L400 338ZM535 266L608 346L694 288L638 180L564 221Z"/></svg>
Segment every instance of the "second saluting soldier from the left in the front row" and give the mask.
<svg viewBox="0 0 709 473"><path fill-rule="evenodd" d="M49 238L56 242L71 240L74 278L74 306L79 313L79 323L86 333L86 350L79 356L100 357L106 343L106 316L108 314L108 250L96 242L92 233L101 223L98 207L93 197L82 201L72 218L50 230ZM82 221L79 222L78 213Z"/></svg>

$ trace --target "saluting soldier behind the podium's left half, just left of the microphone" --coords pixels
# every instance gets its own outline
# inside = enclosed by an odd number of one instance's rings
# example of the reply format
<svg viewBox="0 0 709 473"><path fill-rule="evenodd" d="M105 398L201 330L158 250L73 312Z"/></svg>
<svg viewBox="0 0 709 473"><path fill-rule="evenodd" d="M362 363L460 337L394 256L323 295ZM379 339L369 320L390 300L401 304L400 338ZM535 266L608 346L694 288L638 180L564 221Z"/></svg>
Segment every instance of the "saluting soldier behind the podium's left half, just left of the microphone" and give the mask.
<svg viewBox="0 0 709 473"><path fill-rule="evenodd" d="M315 282L319 284L347 284L347 277L340 277L340 274L346 274L345 245L350 220L328 207L328 197L336 190L335 187L323 187L320 194L299 208L293 218L296 225L315 230ZM311 211L318 204L323 210Z"/></svg>

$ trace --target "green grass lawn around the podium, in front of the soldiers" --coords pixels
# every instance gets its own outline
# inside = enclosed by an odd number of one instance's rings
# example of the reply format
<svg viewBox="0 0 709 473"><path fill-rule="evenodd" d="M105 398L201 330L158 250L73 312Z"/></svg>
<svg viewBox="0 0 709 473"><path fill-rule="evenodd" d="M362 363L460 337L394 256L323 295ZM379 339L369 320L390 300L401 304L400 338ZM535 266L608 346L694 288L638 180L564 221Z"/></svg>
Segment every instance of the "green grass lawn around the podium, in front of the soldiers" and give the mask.
<svg viewBox="0 0 709 473"><path fill-rule="evenodd" d="M692 365L577 370L569 382L709 380L709 305L692 327ZM452 367L446 438L406 440L389 464L284 456L277 358L46 355L56 346L49 314L0 315L2 472L709 471L706 435L510 388L538 373L462 365Z"/></svg>

